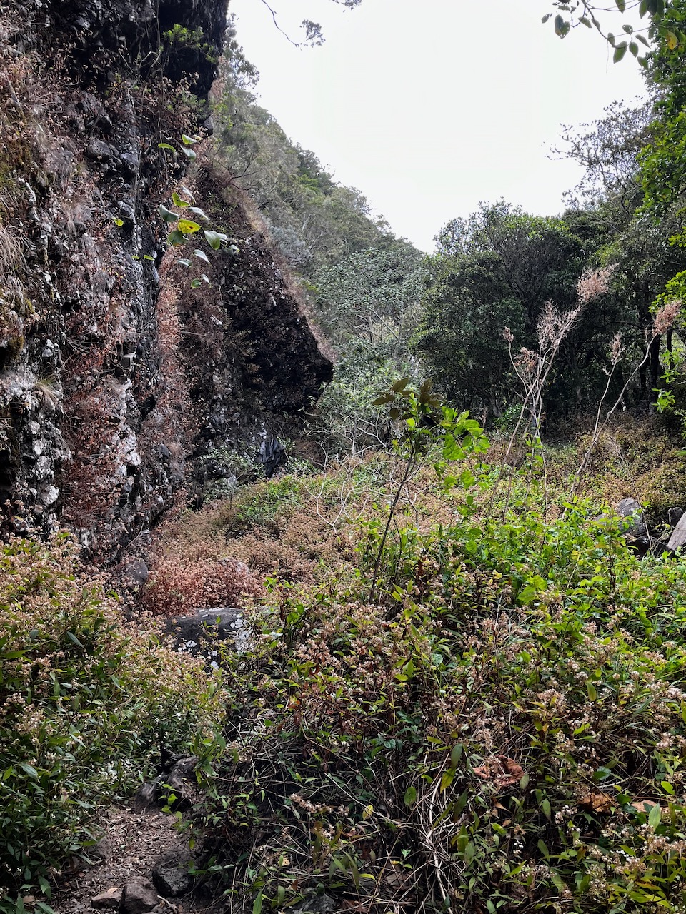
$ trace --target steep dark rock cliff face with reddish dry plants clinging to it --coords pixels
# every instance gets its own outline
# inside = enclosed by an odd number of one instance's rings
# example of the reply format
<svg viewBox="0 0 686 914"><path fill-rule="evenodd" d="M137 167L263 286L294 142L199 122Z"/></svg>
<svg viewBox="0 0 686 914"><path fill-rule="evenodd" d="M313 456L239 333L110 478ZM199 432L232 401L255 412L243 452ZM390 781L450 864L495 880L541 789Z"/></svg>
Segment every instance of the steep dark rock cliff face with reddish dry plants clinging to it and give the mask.
<svg viewBox="0 0 686 914"><path fill-rule="evenodd" d="M5 530L115 558L194 456L287 429L330 373L226 175L158 146L207 117L225 6L0 0ZM181 179L232 243L200 289L157 215Z"/></svg>

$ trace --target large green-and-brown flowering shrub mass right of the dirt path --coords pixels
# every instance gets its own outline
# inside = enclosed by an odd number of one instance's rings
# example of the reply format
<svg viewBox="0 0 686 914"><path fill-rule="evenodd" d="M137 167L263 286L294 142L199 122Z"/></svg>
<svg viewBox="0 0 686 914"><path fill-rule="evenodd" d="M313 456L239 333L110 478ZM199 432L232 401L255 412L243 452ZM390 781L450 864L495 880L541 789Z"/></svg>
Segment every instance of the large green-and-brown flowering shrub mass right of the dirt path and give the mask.
<svg viewBox="0 0 686 914"><path fill-rule="evenodd" d="M591 505L546 519L529 474L483 485L445 526L409 495L373 603L370 508L357 568L275 590L226 658L231 909L684 909L686 562Z"/></svg>

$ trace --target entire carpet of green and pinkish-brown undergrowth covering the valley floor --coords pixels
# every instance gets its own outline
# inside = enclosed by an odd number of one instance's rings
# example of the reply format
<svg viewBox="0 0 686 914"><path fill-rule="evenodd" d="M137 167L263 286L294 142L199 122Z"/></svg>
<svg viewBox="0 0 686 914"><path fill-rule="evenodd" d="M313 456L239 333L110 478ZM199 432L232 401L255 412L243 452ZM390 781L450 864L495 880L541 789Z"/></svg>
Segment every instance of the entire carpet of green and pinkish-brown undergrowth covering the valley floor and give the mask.
<svg viewBox="0 0 686 914"><path fill-rule="evenodd" d="M67 541L5 547L6 910L95 840L160 733L203 757L189 824L229 911L685 909L686 561L640 560L606 506L641 479L678 503L678 446L608 429L570 497L583 439L506 461L476 423L415 418L394 453L164 526L161 614L241 579L254 636L222 683L121 622Z"/></svg>

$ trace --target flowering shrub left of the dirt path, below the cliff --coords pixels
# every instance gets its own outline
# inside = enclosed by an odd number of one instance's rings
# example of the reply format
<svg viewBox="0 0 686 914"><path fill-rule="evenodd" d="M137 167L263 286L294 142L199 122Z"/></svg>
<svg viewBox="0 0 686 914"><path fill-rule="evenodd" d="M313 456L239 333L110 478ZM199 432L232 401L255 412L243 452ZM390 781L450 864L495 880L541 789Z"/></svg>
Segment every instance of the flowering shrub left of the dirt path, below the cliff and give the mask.
<svg viewBox="0 0 686 914"><path fill-rule="evenodd" d="M160 744L209 739L220 691L162 647L151 620L122 622L68 538L0 551L0 911L93 844L89 819L134 790Z"/></svg>

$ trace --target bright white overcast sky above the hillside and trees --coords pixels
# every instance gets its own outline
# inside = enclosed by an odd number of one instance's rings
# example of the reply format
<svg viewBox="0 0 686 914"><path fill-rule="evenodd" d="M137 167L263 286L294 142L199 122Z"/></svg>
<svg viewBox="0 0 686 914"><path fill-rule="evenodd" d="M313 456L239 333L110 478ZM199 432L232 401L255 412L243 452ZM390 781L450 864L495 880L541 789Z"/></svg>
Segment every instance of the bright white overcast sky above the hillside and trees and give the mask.
<svg viewBox="0 0 686 914"><path fill-rule="evenodd" d="M260 0L230 0L238 41L260 70L260 103L422 250L481 200L560 212L580 177L547 157L561 125L643 93L636 61L613 64L595 32L578 27L561 40L541 25L548 0L271 5L289 34L314 19L327 41L294 48Z"/></svg>

